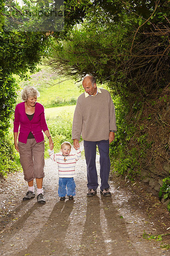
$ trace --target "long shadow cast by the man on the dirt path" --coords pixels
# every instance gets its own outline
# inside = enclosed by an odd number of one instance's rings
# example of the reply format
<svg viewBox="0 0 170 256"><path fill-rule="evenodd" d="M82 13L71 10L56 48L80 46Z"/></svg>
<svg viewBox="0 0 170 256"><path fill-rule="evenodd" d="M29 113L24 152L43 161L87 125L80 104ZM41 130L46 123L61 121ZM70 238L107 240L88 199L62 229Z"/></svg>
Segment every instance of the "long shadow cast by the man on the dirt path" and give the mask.
<svg viewBox="0 0 170 256"><path fill-rule="evenodd" d="M87 198L86 221L78 255L138 256L128 232L112 202L112 197Z"/></svg>

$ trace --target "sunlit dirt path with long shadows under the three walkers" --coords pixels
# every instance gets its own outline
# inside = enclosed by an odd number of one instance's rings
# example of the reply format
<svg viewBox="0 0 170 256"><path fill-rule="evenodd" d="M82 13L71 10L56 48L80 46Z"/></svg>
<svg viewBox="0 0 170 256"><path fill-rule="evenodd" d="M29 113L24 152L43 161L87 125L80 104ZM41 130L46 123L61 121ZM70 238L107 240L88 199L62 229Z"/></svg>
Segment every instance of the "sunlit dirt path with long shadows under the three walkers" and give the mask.
<svg viewBox="0 0 170 256"><path fill-rule="evenodd" d="M22 201L27 191L22 173L9 175L1 184L0 256L170 255L170 250L160 248L161 242L142 236L144 230L170 232L170 215L157 198L140 186L119 180L110 181L112 197L101 197L98 188L97 196L86 198L86 162L82 157L76 166L75 200L61 202L55 169L55 163L46 160L45 205L38 205L36 198Z"/></svg>

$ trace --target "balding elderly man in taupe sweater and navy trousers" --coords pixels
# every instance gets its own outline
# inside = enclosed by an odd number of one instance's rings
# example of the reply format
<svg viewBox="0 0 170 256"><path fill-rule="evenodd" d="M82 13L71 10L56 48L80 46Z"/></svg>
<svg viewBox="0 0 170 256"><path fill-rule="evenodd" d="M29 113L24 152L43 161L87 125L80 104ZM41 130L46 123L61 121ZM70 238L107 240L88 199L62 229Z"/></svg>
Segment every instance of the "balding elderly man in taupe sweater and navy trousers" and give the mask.
<svg viewBox="0 0 170 256"><path fill-rule="evenodd" d="M77 100L75 108L72 140L75 149L80 147L79 140L82 135L87 165L87 196L97 194L98 176L96 171L96 145L100 153L100 193L110 196L109 192L109 143L115 138L117 131L115 120L115 108L109 92L99 89L93 76L85 76L83 79L85 92Z"/></svg>

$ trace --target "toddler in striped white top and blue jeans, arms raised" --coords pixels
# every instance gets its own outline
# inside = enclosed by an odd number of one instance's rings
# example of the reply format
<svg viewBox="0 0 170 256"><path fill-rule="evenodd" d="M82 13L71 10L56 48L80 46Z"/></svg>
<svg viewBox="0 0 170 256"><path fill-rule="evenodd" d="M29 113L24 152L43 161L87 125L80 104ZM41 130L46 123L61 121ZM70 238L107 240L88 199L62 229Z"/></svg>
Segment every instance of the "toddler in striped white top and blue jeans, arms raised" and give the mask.
<svg viewBox="0 0 170 256"><path fill-rule="evenodd" d="M69 200L75 195L75 164L81 157L80 148L76 154L70 154L71 144L67 141L61 144L61 153L55 154L54 150L48 150L50 158L58 164L58 195L61 201L65 201L66 195Z"/></svg>

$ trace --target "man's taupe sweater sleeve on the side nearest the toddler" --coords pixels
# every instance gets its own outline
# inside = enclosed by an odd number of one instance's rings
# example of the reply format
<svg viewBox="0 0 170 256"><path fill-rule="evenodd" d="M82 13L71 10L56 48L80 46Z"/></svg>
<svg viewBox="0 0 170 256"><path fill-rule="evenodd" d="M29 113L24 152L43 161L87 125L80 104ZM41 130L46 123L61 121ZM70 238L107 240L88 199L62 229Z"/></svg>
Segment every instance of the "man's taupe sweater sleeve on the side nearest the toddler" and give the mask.
<svg viewBox="0 0 170 256"><path fill-rule="evenodd" d="M73 117L73 123L72 123L72 140L80 140L81 137L81 131L83 127L83 114L81 111L81 105L77 101L77 105L75 107L75 113Z"/></svg>

